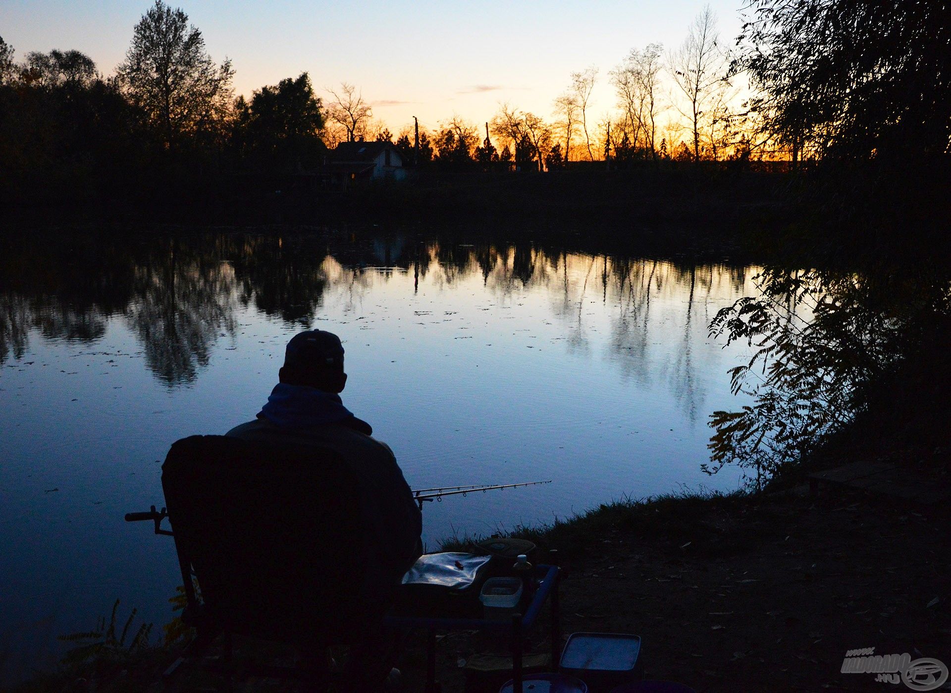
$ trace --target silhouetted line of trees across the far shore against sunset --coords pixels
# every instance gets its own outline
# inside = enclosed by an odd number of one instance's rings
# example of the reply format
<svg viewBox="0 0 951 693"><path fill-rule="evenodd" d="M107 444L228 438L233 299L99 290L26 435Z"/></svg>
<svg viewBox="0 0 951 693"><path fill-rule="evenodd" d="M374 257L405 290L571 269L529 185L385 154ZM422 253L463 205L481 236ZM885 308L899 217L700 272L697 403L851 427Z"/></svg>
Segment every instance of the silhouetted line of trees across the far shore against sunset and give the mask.
<svg viewBox="0 0 951 693"><path fill-rule="evenodd" d="M865 199L890 200L907 172L925 171L914 180L928 190L934 171L947 169L948 13L939 2L882 10L753 0L727 49L705 8L680 47L632 49L608 71L617 97L609 113L592 112L592 66L571 74L550 119L502 104L484 129L453 116L420 129L417 145L415 129L394 135L345 82L326 101L306 72L235 98L230 61L214 61L184 11L156 0L111 75L77 50L18 61L0 38L0 195L8 205L203 200L226 174L313 170L340 141L367 139L447 170L594 160L847 165L861 168L853 175L865 176ZM751 90L741 98L744 80ZM930 204L915 200L901 213Z"/></svg>

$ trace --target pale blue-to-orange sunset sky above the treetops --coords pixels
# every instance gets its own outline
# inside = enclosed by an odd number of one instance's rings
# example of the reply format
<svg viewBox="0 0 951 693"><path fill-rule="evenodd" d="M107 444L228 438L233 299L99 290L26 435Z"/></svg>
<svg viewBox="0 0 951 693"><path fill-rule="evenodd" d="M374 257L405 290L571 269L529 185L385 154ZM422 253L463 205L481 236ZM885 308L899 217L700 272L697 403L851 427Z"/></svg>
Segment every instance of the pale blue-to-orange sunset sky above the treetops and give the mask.
<svg viewBox="0 0 951 693"><path fill-rule="evenodd" d="M711 0L731 48L744 0ZM235 89L250 94L310 73L314 87L348 81L374 116L398 131L436 128L454 114L481 124L500 102L552 113L574 70L600 69L592 110L614 105L608 71L634 47L683 42L701 0L628 2L337 2L171 0L202 30L215 60L232 59ZM29 50L79 49L111 73L122 61L147 0L3 0L0 36Z"/></svg>

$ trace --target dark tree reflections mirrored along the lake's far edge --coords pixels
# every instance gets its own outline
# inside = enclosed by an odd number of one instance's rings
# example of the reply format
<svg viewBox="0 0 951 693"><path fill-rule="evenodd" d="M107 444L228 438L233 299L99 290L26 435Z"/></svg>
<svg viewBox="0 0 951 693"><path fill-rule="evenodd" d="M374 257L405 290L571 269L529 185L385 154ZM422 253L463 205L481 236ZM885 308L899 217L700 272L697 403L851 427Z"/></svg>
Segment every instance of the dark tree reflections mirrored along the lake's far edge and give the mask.
<svg viewBox="0 0 951 693"><path fill-rule="evenodd" d="M254 307L288 327L307 327L328 294L355 309L374 282L394 273L453 287L473 276L498 301L528 289L548 296L569 352L592 353L592 304L610 307L607 358L622 378L648 384L651 303L683 301L655 341L670 344L670 385L691 420L705 415L693 354L711 317L711 296L741 292L745 267L695 265L569 252L531 241L458 243L411 236L203 233L135 242L89 240L42 254L23 240L4 248L0 279L0 364L19 359L35 331L41 339L96 343L121 316L154 376L190 384L219 340L234 339L236 313ZM37 271L37 267L42 267ZM676 321L678 325L670 325Z"/></svg>

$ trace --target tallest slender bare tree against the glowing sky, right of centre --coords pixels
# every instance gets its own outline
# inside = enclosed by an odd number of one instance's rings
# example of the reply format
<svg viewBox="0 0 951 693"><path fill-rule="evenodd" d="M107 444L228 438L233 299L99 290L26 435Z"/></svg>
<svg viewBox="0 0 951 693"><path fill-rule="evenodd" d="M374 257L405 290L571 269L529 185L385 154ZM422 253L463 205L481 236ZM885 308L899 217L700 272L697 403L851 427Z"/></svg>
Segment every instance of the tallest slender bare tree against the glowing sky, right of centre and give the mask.
<svg viewBox="0 0 951 693"><path fill-rule="evenodd" d="M707 5L690 24L687 40L669 58L673 81L689 104L689 112L681 112L690 120L694 161L700 161L701 118L708 100L727 79L727 57L718 39L716 14Z"/></svg>

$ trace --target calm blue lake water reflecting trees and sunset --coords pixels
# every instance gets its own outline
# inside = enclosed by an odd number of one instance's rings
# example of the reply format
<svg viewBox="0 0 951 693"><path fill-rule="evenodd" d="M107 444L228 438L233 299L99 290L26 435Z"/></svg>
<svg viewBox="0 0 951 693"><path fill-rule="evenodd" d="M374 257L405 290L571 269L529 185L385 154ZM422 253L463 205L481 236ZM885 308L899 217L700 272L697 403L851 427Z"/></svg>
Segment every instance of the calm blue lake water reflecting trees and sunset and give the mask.
<svg viewBox="0 0 951 693"><path fill-rule="evenodd" d="M740 484L700 471L746 351L708 324L755 268L365 230L129 235L0 247L0 681L117 598L160 631L172 541L123 514L163 505L174 440L254 418L304 328L340 335L344 404L414 488L553 480L426 505L430 547Z"/></svg>

